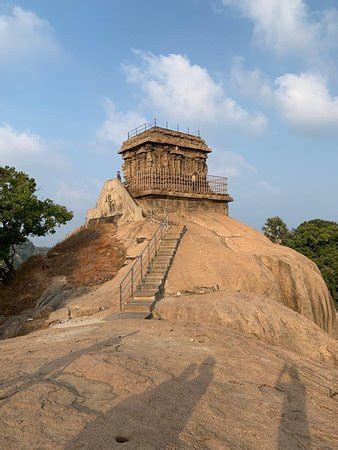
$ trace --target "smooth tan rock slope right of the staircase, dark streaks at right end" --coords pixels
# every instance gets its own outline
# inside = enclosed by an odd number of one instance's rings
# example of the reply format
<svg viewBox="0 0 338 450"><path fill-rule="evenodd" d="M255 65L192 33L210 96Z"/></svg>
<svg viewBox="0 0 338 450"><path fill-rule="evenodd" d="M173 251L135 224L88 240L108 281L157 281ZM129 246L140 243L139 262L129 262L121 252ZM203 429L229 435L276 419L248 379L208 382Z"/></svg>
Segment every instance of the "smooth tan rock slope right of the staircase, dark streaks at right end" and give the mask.
<svg viewBox="0 0 338 450"><path fill-rule="evenodd" d="M271 297L334 333L335 308L317 266L222 214L180 216L187 225L166 294L217 286L226 293Z"/></svg>

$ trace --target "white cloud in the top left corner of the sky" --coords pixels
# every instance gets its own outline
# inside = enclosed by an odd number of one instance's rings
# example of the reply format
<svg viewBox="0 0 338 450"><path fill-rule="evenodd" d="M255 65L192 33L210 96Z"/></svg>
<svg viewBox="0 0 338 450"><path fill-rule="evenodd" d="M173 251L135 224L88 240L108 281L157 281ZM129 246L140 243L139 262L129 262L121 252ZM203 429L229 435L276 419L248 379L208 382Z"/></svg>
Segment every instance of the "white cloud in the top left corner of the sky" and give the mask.
<svg viewBox="0 0 338 450"><path fill-rule="evenodd" d="M0 15L0 65L59 51L51 25L34 12L15 6L10 15Z"/></svg>

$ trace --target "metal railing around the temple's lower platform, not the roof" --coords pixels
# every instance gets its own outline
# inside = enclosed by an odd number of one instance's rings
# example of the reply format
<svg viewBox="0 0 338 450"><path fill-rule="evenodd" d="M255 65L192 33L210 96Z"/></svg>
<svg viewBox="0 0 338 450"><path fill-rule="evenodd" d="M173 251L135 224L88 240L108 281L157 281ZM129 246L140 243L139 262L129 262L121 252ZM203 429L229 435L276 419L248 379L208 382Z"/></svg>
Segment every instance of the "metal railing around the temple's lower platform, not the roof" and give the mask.
<svg viewBox="0 0 338 450"><path fill-rule="evenodd" d="M180 174L169 170L148 170L133 175L128 183L131 193L174 191L207 195L227 195L228 179L213 175Z"/></svg>

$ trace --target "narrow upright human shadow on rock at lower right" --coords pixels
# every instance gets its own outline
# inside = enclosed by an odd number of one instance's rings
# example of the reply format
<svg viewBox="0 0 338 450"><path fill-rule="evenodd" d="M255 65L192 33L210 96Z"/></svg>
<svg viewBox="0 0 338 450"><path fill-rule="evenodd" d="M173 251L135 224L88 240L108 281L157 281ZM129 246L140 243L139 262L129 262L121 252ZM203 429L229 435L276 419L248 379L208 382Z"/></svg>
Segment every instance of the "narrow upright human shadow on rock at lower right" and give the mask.
<svg viewBox="0 0 338 450"><path fill-rule="evenodd" d="M310 448L306 390L300 381L297 368L292 364L285 363L275 387L284 393L277 448L279 450Z"/></svg>

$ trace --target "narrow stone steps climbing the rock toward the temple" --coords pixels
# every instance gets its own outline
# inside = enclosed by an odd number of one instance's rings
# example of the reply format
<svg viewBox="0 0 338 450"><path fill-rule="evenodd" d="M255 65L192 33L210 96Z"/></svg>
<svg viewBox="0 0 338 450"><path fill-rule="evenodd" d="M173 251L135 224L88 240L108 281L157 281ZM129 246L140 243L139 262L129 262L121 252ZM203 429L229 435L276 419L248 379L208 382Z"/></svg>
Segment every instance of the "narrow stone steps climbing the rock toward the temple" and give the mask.
<svg viewBox="0 0 338 450"><path fill-rule="evenodd" d="M143 281L125 304L124 312L140 313L143 317L151 314L155 303L163 297L164 283L185 231L185 226L174 226L167 231Z"/></svg>

